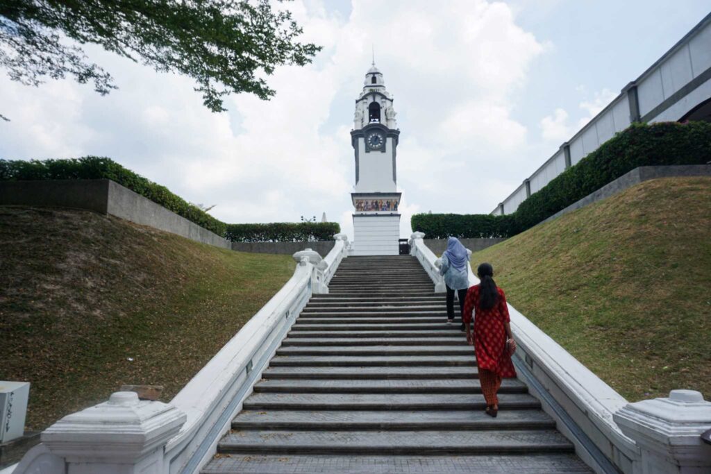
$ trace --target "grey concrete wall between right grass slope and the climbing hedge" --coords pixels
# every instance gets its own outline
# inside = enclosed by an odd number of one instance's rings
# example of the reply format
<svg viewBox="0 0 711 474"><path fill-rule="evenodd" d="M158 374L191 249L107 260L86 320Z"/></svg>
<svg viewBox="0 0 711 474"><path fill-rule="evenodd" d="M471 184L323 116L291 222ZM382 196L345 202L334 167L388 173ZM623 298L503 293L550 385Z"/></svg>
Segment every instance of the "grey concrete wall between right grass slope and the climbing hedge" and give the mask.
<svg viewBox="0 0 711 474"><path fill-rule="evenodd" d="M615 181L611 181L611 183L607 183L602 188L599 188L599 190L572 203L567 208L556 212L542 222L548 222L549 220L582 208L595 201L609 198L611 195L615 195L643 181L656 178L673 178L674 176L711 176L711 165L640 166L639 168L634 168L634 170L629 173L620 176Z"/></svg>

